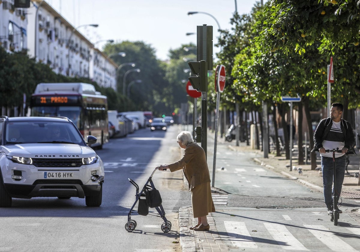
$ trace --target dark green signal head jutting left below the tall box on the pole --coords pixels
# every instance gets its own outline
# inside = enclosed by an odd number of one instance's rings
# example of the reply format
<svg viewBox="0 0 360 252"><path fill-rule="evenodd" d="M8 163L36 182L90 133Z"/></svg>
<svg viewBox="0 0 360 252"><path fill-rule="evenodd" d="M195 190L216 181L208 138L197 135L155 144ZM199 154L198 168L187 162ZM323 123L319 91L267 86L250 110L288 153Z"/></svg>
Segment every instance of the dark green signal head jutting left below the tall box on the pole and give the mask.
<svg viewBox="0 0 360 252"><path fill-rule="evenodd" d="M207 92L207 69L206 61L190 61L189 63L191 72L195 76L189 77L189 81L194 89Z"/></svg>

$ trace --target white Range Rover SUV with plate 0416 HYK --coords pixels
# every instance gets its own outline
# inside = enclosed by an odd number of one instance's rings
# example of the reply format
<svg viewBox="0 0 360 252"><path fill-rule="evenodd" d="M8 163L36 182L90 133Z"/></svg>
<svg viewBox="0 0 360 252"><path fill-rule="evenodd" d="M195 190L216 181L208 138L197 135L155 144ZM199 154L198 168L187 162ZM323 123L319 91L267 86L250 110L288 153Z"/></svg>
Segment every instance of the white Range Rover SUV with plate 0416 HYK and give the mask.
<svg viewBox="0 0 360 252"><path fill-rule="evenodd" d="M85 198L102 203L104 165L66 117L0 116L0 207L12 198Z"/></svg>

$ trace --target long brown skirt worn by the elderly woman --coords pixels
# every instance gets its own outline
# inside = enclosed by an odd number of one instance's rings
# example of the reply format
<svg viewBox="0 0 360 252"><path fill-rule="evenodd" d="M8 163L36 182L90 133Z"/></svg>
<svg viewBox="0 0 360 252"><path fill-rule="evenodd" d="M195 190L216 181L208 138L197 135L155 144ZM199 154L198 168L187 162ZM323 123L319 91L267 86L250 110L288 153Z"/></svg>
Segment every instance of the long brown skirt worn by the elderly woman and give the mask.
<svg viewBox="0 0 360 252"><path fill-rule="evenodd" d="M211 197L210 182L195 186L191 190L191 204L194 218L215 212L215 206Z"/></svg>

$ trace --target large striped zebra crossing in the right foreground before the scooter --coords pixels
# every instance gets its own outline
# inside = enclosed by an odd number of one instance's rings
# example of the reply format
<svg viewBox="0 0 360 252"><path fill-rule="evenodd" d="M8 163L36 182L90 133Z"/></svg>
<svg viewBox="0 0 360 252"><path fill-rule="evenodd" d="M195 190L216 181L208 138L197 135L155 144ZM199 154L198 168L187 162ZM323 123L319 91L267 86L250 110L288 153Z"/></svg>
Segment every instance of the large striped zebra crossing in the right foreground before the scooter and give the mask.
<svg viewBox="0 0 360 252"><path fill-rule="evenodd" d="M291 220L283 215L285 220ZM224 221L227 235L221 239L231 247L247 251L338 251L359 252L359 226L328 228L312 225L263 222L256 229L243 221ZM254 250L253 250L254 249Z"/></svg>

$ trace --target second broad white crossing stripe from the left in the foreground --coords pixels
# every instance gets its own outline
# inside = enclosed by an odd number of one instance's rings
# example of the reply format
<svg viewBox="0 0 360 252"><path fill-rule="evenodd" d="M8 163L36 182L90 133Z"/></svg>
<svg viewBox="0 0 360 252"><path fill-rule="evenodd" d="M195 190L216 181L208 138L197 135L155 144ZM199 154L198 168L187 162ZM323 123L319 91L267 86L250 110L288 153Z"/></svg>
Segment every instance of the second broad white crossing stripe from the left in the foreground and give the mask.
<svg viewBox="0 0 360 252"><path fill-rule="evenodd" d="M309 250L305 248L282 224L264 223L270 235L283 249Z"/></svg>

